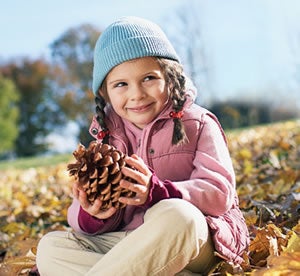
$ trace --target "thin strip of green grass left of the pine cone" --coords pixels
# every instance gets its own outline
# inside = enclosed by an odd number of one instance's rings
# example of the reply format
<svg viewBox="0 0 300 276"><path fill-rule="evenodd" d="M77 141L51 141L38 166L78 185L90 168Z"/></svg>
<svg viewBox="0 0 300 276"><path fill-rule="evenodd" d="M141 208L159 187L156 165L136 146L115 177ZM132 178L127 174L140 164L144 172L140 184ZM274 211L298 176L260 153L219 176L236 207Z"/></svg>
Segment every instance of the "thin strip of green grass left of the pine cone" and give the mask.
<svg viewBox="0 0 300 276"><path fill-rule="evenodd" d="M51 167L60 163L67 163L71 160L72 154L56 154L51 156L38 156L28 158L18 158L16 160L0 161L0 171L9 169L29 169L37 167Z"/></svg>

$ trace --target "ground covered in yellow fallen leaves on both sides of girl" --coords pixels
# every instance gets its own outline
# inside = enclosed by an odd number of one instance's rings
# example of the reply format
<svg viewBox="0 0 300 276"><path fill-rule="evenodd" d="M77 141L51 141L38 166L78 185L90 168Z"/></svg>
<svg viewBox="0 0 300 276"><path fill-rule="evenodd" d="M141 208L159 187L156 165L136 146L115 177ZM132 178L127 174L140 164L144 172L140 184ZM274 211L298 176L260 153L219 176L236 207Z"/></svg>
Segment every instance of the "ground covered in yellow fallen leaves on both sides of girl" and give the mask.
<svg viewBox="0 0 300 276"><path fill-rule="evenodd" d="M251 235L244 264L212 275L300 275L300 121L228 134ZM67 227L66 163L0 171L0 275L34 275L40 237Z"/></svg>

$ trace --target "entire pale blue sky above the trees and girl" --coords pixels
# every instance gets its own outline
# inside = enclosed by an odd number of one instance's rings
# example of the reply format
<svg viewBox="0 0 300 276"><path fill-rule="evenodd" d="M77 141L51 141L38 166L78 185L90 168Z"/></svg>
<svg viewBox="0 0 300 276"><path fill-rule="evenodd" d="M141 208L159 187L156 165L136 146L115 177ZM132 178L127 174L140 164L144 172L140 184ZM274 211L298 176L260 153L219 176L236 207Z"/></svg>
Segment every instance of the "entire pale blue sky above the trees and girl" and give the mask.
<svg viewBox="0 0 300 276"><path fill-rule="evenodd" d="M167 29L165 19L188 4L199 9L217 98L237 97L242 91L251 97L266 90L283 95L297 88L293 74L295 60L300 63L300 38L295 44L295 34L300 37L298 0L3 1L0 60L47 56L49 44L68 28L91 23L103 29L123 15L142 16ZM299 87L292 93L299 95Z"/></svg>

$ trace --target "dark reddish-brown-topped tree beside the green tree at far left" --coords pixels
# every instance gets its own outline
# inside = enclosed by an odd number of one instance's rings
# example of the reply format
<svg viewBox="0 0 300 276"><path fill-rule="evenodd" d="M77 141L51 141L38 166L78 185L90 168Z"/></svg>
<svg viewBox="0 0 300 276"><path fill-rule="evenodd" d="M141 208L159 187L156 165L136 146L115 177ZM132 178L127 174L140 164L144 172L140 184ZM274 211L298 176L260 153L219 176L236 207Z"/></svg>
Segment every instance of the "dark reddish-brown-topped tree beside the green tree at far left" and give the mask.
<svg viewBox="0 0 300 276"><path fill-rule="evenodd" d="M59 107L49 89L50 67L43 60L22 59L0 68L0 73L13 80L20 93L19 136L17 156L33 156L47 150L45 137L61 124Z"/></svg>

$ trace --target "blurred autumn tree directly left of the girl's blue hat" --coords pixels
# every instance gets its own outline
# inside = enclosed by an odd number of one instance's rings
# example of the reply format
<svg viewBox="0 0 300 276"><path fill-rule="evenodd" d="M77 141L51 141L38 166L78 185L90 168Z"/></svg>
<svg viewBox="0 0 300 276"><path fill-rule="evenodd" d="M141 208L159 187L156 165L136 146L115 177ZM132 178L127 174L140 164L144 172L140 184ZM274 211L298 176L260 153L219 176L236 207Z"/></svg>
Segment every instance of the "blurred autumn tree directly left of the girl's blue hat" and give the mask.
<svg viewBox="0 0 300 276"><path fill-rule="evenodd" d="M51 44L55 71L53 86L65 116L79 126L79 140L91 140L88 127L94 114L92 88L93 49L100 32L83 24L63 33Z"/></svg>

